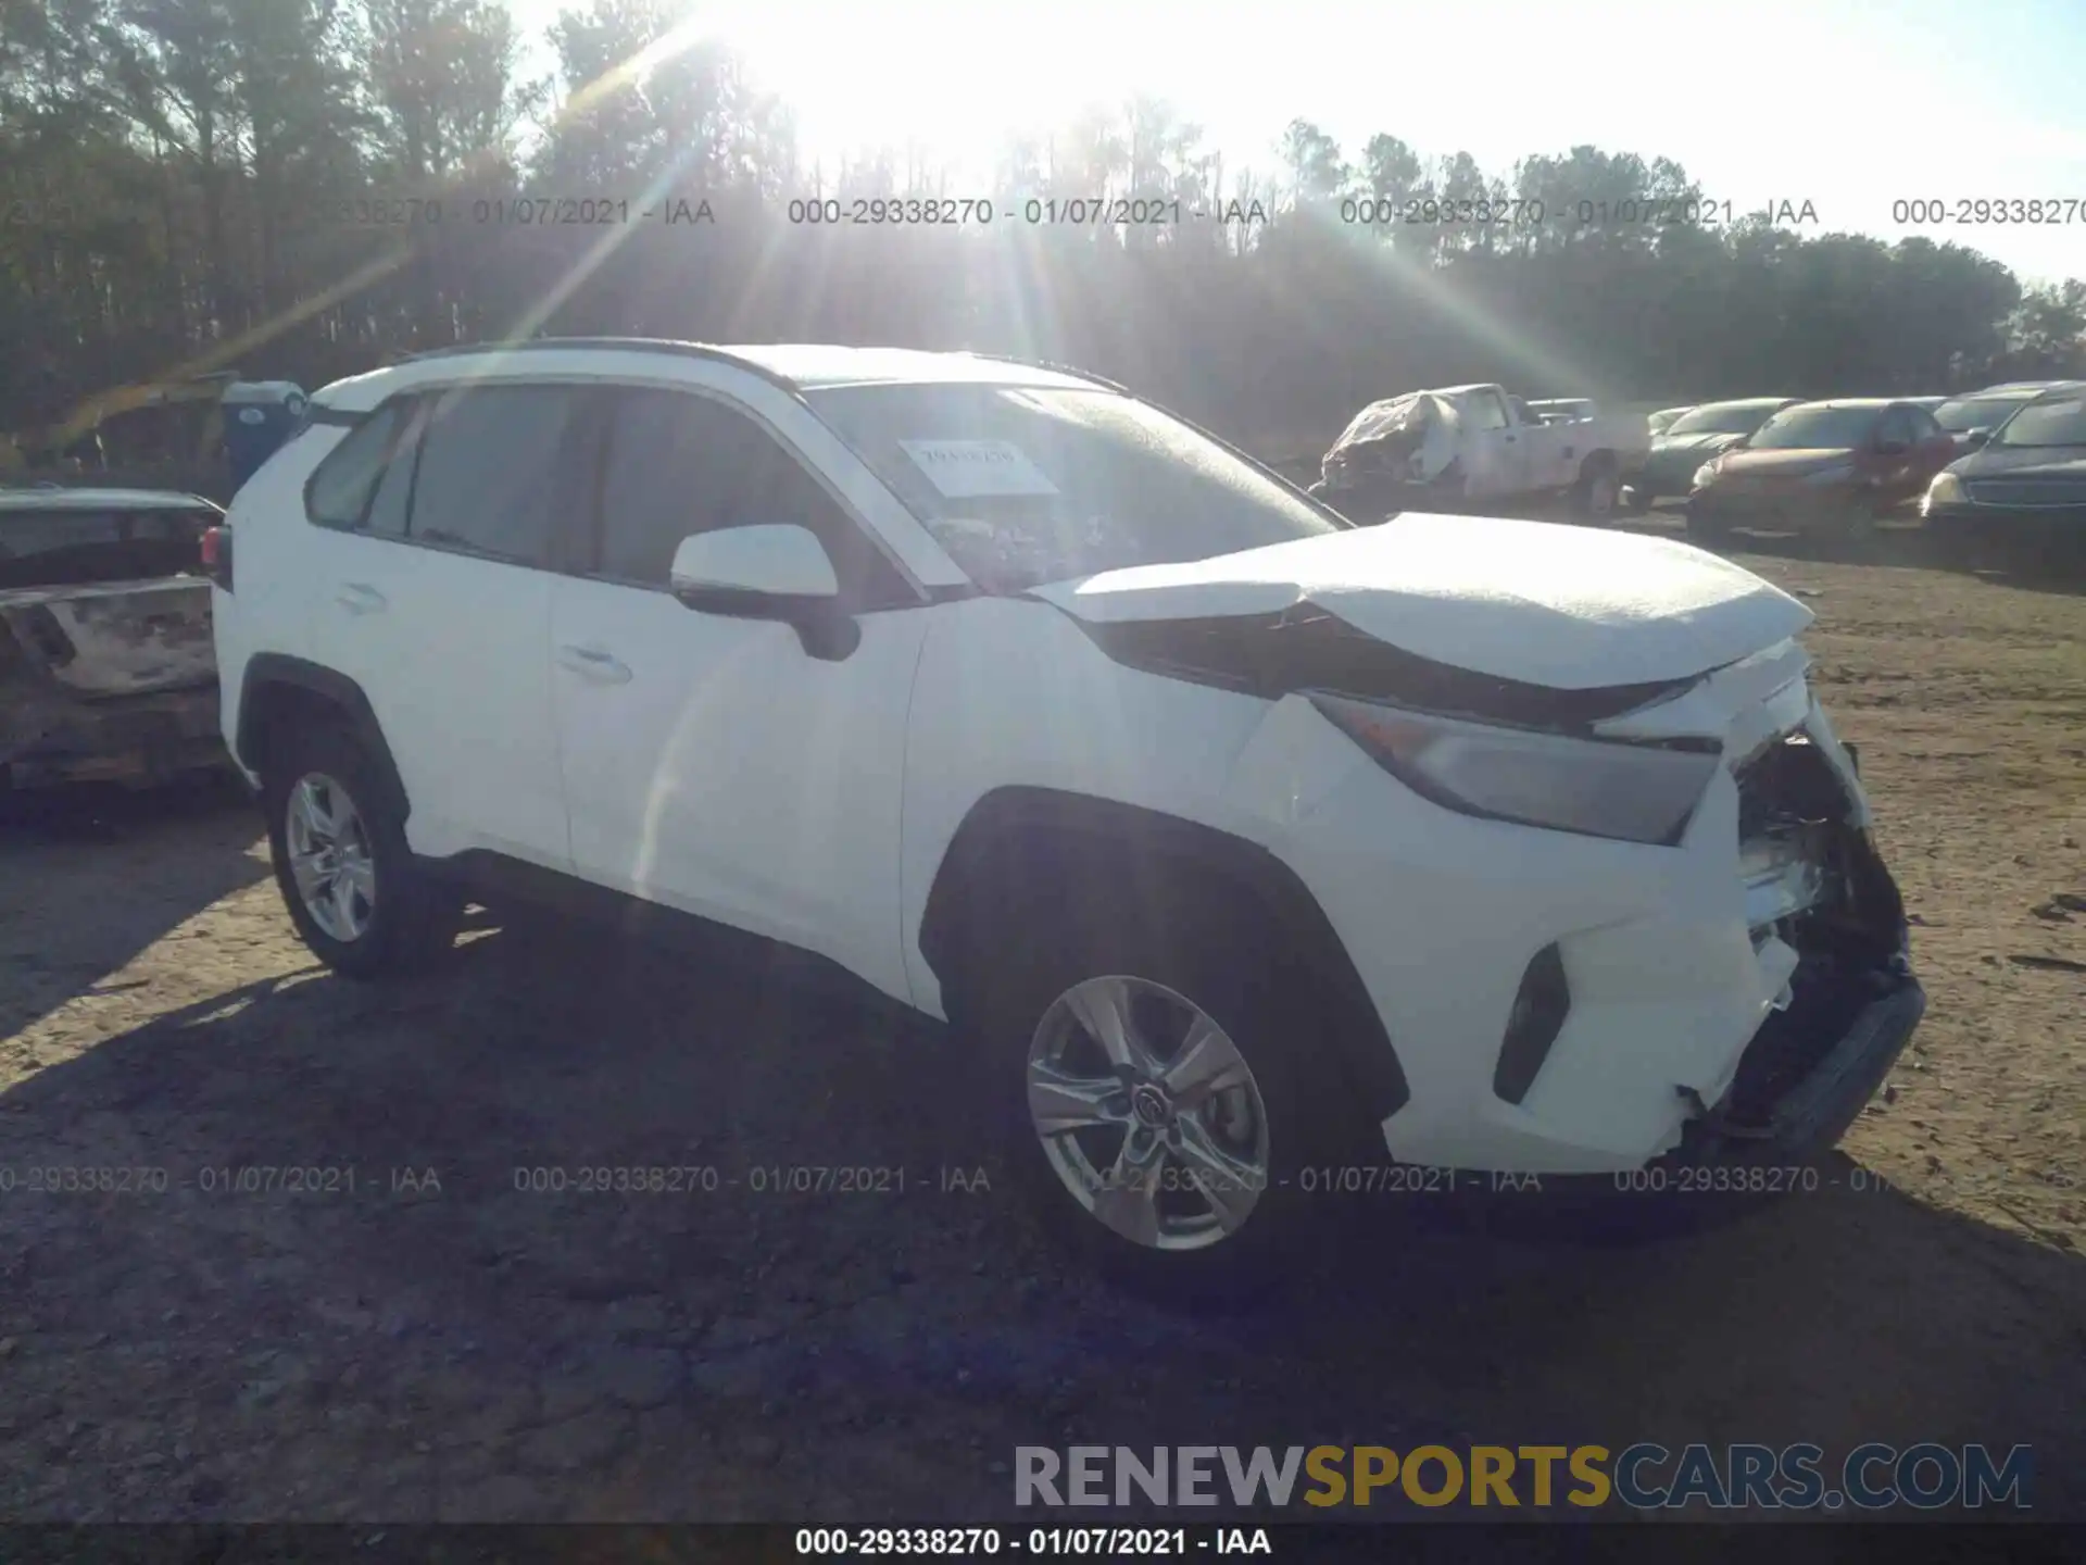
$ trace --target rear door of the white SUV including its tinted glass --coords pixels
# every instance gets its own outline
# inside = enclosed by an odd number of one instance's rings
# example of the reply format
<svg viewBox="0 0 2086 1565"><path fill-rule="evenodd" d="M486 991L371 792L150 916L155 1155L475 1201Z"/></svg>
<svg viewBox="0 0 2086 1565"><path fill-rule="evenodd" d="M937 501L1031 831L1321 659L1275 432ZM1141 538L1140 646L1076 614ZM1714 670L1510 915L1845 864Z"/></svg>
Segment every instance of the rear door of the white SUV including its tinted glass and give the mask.
<svg viewBox="0 0 2086 1565"><path fill-rule="evenodd" d="M311 645L369 697L419 853L572 864L551 570L590 505L597 396L478 384L394 399L307 486Z"/></svg>

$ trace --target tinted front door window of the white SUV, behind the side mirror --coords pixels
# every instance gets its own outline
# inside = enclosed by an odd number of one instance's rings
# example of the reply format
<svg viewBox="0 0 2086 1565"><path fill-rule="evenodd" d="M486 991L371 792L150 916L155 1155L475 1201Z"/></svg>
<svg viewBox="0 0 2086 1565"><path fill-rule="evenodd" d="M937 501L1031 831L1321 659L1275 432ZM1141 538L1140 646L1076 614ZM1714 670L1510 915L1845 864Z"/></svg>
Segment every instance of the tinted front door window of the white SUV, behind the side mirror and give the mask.
<svg viewBox="0 0 2086 1565"><path fill-rule="evenodd" d="M809 528L857 605L912 601L855 520L751 417L690 392L617 399L601 484L603 576L665 586L682 538L776 524Z"/></svg>

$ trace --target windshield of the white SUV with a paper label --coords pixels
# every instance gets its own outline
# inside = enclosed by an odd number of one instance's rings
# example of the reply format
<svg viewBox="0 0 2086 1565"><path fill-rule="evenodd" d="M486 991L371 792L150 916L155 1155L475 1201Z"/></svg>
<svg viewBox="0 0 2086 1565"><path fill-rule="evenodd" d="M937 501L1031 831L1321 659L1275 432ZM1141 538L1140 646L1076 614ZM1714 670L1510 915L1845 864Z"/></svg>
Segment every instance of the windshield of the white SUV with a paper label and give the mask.
<svg viewBox="0 0 2086 1565"><path fill-rule="evenodd" d="M1341 530L1118 392L828 386L805 401L989 593Z"/></svg>

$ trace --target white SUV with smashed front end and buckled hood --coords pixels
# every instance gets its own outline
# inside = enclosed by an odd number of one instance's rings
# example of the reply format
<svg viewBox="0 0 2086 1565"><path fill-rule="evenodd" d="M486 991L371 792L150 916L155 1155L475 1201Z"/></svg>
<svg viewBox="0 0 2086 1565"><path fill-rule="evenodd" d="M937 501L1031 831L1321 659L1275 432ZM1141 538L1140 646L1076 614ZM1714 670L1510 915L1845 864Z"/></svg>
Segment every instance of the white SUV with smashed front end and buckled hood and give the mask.
<svg viewBox="0 0 2086 1565"><path fill-rule="evenodd" d="M1427 1171L1786 1171L1921 1014L1800 603L1354 528L1085 376L428 355L321 390L211 557L330 966L423 964L482 887L816 954L955 1022L1043 1214L1147 1279Z"/></svg>

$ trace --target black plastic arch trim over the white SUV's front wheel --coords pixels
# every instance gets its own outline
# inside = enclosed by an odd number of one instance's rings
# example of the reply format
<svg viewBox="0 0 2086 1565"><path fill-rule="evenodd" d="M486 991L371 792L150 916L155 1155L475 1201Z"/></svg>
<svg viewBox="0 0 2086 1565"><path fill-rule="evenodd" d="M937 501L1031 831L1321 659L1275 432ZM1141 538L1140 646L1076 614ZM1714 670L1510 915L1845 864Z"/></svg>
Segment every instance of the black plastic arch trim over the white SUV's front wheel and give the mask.
<svg viewBox="0 0 2086 1565"><path fill-rule="evenodd" d="M1362 977L1318 899L1283 860L1216 826L1160 810L1058 789L1003 787L964 816L928 887L920 956L947 997L964 1004L966 968L991 960L991 912L1008 889L1039 889L1051 904L1083 897L1154 904L1168 889L1220 887L1241 895L1304 964L1331 1062L1368 1116L1406 1104L1404 1068Z"/></svg>

